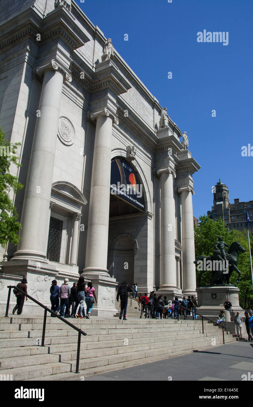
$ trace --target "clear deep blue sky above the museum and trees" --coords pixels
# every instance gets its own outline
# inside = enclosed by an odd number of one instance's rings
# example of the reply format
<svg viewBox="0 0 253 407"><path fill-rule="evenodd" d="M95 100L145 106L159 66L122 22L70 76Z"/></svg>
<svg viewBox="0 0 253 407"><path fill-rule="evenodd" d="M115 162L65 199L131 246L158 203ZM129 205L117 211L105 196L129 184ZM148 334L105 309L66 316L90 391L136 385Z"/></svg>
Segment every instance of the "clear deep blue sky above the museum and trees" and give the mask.
<svg viewBox="0 0 253 407"><path fill-rule="evenodd" d="M211 210L219 178L229 198L253 200L253 1L85 0L99 26L181 131L201 165L193 175L195 217ZM229 32L229 43L198 43L197 32ZM124 41L124 34L128 41ZM167 72L172 79L167 79ZM216 117L212 117L212 110Z"/></svg>

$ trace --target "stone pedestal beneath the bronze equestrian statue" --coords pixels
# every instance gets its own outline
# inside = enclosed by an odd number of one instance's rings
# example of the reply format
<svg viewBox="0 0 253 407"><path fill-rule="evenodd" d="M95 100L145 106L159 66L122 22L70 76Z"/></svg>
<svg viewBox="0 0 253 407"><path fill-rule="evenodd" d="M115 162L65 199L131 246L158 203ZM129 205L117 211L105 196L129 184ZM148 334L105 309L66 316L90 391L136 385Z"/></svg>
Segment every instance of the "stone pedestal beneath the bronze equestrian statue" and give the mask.
<svg viewBox="0 0 253 407"><path fill-rule="evenodd" d="M198 287L198 306L201 315L210 315L218 317L220 310L224 310L223 304L229 298L232 304L232 310L236 313L240 312L244 316L244 310L239 305L238 287L234 285L215 285L207 287Z"/></svg>

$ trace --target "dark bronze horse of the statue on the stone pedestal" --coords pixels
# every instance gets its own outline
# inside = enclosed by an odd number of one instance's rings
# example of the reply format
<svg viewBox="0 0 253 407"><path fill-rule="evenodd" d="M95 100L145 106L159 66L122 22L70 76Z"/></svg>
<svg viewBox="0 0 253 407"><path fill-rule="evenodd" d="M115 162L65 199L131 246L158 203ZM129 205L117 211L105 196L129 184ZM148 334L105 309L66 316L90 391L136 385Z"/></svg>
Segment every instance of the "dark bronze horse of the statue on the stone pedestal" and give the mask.
<svg viewBox="0 0 253 407"><path fill-rule="evenodd" d="M236 271L238 273L238 278L236 280L236 284L238 284L238 282L240 281L240 277L241 277L241 272L240 270L237 268L238 265L238 257L239 257L239 253L244 253L245 249L244 247L242 247L242 245L239 242L234 242L231 244L231 246L229 247L228 251L226 252L226 257L228 260L228 269L229 272L227 274L223 273L223 270L216 270L216 271L212 271L212 279L211 279L211 285L216 285L216 284L227 284L227 285L231 285L229 283L231 274L233 273L233 271ZM214 250L214 254L210 255L210 256L199 256L193 263L197 263L198 260L203 261L203 259L206 259L206 261L208 260L223 260L223 258L221 257L220 251L219 250ZM203 276L203 273L205 273L206 270L202 270L199 274L199 278L198 278L198 287L201 286L200 284L200 280L201 277ZM237 287L237 285L236 285Z"/></svg>

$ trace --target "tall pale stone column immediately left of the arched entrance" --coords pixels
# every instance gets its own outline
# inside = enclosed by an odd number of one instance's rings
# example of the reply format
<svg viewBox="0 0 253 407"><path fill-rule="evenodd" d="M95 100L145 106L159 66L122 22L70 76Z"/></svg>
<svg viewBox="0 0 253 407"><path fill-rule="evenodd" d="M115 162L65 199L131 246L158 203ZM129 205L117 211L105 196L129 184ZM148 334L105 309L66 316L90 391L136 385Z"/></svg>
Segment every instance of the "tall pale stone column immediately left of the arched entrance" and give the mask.
<svg viewBox="0 0 253 407"><path fill-rule="evenodd" d="M93 167L91 176L91 195L89 202L89 221L86 244L84 274L105 274L107 270L108 227L110 205L110 167L112 150L112 120L118 119L107 109L91 114L97 119ZM83 275L84 275L83 274Z"/></svg>

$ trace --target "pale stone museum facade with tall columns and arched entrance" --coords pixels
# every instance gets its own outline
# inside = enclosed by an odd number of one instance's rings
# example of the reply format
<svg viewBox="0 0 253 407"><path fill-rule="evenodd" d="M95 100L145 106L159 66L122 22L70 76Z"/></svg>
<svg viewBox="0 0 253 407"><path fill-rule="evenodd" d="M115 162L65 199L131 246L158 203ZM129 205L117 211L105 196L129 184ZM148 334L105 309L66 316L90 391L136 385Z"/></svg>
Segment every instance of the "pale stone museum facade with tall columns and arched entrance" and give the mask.
<svg viewBox="0 0 253 407"><path fill-rule="evenodd" d="M125 279L170 299L196 295L200 166L186 132L74 1L0 5L0 125L21 143L11 172L24 184L13 196L22 240L0 259L1 310L21 276L50 304L52 280L72 286L82 274L97 293L94 315L116 312Z"/></svg>

